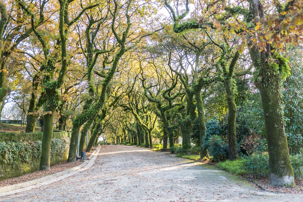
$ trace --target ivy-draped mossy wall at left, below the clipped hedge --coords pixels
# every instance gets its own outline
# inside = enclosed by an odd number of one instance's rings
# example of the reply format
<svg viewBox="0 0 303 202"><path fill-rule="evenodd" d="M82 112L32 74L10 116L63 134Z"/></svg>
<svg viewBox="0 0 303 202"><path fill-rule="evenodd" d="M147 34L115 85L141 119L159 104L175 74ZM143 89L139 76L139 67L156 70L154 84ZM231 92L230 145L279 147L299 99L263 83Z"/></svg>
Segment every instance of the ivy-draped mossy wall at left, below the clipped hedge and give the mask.
<svg viewBox="0 0 303 202"><path fill-rule="evenodd" d="M67 159L69 143L69 137L52 139L51 165ZM26 142L0 142L0 180L38 171L40 157L40 140Z"/></svg>

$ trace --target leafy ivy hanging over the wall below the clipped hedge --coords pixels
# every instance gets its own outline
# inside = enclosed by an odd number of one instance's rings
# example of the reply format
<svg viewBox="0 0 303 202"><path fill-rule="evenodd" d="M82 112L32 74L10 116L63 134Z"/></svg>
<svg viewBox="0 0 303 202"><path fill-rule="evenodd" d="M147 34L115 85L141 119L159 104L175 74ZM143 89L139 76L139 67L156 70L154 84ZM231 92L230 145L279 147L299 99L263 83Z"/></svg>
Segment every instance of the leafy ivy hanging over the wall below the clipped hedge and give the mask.
<svg viewBox="0 0 303 202"><path fill-rule="evenodd" d="M51 158L68 151L70 139L53 138L51 143ZM30 163L39 160L41 155L41 141L0 142L0 163L15 164L16 162Z"/></svg>

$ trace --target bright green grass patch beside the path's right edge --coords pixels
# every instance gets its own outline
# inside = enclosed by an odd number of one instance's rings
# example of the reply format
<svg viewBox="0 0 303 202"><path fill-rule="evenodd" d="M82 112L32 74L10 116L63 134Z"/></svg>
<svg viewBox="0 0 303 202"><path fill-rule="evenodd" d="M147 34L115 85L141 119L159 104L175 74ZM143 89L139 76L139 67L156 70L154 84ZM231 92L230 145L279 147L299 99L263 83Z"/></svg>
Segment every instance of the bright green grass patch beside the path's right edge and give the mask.
<svg viewBox="0 0 303 202"><path fill-rule="evenodd" d="M237 159L235 161L224 161L217 164L217 167L221 170L227 171L232 174L242 175L247 174L247 171L243 169L244 159Z"/></svg>

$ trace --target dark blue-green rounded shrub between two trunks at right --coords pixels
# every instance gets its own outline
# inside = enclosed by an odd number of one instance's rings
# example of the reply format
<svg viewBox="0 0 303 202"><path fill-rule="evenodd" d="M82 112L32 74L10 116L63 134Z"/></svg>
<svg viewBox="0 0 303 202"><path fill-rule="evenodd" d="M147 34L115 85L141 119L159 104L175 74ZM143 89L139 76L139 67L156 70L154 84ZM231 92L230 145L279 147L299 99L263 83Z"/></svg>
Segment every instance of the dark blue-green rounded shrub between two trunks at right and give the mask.
<svg viewBox="0 0 303 202"><path fill-rule="evenodd" d="M214 161L223 161L228 158L228 145L218 135L211 136L207 141L207 150Z"/></svg>

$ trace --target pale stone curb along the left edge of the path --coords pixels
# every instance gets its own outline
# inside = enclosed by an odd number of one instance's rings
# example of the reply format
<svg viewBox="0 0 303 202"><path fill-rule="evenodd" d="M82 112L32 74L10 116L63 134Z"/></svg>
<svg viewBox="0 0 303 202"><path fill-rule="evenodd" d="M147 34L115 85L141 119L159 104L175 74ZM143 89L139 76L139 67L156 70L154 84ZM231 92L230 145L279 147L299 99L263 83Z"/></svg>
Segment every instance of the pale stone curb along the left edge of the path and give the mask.
<svg viewBox="0 0 303 202"><path fill-rule="evenodd" d="M85 158L85 160L86 159L90 160L93 157L93 155L96 153L96 151L97 150L95 150L88 158ZM40 182L45 182L46 180L49 180L49 179L52 179L52 178L70 173L70 172L75 171L75 170L78 170L79 168L82 168L83 166L85 166L87 163L88 163L88 161L85 161L81 165L78 165L76 167L72 167L72 168L67 169L65 171L54 173L54 174L51 174L51 175L48 175L48 176L45 176L45 177L41 177L41 178L38 178L38 179L35 179L35 180L30 180L28 182L22 182L22 183L19 183L19 184L13 184L13 185L5 186L5 187L0 187L0 194L4 193L4 192L7 192L7 191L12 191L12 190L16 190L16 189L19 189L19 188L28 187L28 186L31 186L31 185L34 185L34 184L38 184Z"/></svg>

